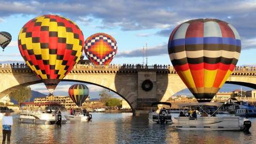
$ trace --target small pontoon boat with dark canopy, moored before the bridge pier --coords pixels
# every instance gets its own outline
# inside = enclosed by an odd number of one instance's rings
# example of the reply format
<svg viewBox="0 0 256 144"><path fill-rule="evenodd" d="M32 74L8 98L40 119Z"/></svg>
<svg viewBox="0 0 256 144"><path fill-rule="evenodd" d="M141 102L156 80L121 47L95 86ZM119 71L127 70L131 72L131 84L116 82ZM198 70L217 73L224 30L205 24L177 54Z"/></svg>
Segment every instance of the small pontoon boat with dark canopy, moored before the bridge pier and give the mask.
<svg viewBox="0 0 256 144"><path fill-rule="evenodd" d="M151 107L157 105L167 105L171 108L170 102L153 102ZM170 109L161 108L159 110L151 109L151 112L148 114L149 123L161 123L161 124L172 124L172 116Z"/></svg>

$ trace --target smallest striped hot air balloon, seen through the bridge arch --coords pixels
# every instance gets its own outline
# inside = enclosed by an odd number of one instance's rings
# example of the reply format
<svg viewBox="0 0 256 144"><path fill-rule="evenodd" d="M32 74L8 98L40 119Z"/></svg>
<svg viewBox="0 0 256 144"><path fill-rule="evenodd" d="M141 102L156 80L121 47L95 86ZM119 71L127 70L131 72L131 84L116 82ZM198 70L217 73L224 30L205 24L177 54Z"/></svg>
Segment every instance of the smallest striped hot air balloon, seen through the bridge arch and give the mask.
<svg viewBox="0 0 256 144"><path fill-rule="evenodd" d="M78 107L81 107L89 95L89 89L84 84L74 84L69 87L68 94Z"/></svg>

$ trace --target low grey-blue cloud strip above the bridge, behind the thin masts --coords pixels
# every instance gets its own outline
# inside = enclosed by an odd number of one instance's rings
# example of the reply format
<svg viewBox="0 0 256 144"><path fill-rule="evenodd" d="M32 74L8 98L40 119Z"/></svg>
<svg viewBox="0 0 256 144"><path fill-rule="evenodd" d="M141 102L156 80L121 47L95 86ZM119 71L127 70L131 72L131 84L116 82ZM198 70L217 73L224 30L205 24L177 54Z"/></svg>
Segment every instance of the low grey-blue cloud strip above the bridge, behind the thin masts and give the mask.
<svg viewBox="0 0 256 144"><path fill-rule="evenodd" d="M142 57L142 47L132 50L132 51L123 51L119 52L116 57ZM162 55L162 54L168 54L167 51L167 44L164 45L158 45L154 47L149 47L147 51L148 56L156 56L156 55ZM146 57L146 48L144 49L144 57Z"/></svg>

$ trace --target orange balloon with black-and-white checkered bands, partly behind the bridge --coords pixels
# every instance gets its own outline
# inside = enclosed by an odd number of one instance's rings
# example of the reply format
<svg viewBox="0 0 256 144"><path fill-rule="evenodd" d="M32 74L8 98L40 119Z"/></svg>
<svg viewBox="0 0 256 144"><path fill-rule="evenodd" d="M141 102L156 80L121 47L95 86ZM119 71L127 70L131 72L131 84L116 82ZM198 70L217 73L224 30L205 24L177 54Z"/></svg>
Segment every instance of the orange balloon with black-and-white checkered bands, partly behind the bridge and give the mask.
<svg viewBox="0 0 256 144"><path fill-rule="evenodd" d="M84 52L94 65L109 65L117 52L116 40L105 33L91 35L85 40Z"/></svg>

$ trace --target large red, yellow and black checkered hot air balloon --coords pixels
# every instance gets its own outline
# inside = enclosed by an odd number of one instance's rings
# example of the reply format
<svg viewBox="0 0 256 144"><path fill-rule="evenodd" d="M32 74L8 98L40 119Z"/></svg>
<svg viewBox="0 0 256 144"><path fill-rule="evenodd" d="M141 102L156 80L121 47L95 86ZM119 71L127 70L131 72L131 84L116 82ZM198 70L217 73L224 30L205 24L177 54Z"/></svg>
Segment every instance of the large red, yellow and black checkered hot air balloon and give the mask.
<svg viewBox="0 0 256 144"><path fill-rule="evenodd" d="M49 14L28 21L18 44L27 65L52 93L81 57L84 36L73 21Z"/></svg>

